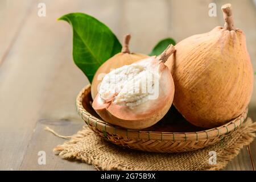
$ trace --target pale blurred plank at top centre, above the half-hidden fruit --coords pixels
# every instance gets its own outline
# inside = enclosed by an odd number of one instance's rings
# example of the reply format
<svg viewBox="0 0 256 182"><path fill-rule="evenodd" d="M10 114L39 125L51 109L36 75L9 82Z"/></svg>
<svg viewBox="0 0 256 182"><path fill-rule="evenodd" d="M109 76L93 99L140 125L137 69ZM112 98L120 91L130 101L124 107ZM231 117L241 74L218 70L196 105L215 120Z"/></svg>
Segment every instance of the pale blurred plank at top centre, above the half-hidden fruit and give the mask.
<svg viewBox="0 0 256 182"><path fill-rule="evenodd" d="M148 54L168 36L166 1L124 1L121 10L121 34L131 34L130 49Z"/></svg>

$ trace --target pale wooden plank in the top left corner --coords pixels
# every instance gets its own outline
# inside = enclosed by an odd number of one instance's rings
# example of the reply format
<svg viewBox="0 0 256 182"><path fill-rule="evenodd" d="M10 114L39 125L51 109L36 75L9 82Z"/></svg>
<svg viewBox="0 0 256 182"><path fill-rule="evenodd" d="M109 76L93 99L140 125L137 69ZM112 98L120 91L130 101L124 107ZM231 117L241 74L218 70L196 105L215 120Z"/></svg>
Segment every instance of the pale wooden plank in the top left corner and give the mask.
<svg viewBox="0 0 256 182"><path fill-rule="evenodd" d="M32 0L0 1L0 65L26 22Z"/></svg>

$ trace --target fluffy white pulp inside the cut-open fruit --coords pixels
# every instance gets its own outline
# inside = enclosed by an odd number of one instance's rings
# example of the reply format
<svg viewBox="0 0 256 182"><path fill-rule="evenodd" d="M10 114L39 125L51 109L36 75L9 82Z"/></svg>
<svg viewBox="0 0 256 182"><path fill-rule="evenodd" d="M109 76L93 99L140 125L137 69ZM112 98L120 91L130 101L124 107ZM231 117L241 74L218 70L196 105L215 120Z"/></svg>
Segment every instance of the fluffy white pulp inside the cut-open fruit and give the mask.
<svg viewBox="0 0 256 182"><path fill-rule="evenodd" d="M103 102L134 107L154 94L152 87L159 81L159 74L148 65L131 64L114 69L102 80L99 94Z"/></svg>

